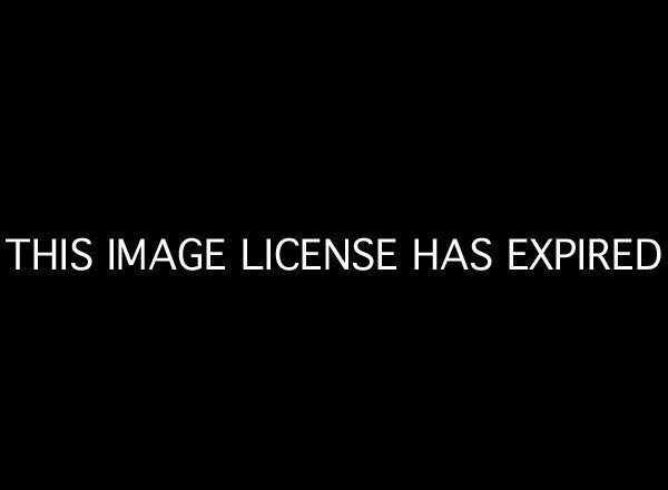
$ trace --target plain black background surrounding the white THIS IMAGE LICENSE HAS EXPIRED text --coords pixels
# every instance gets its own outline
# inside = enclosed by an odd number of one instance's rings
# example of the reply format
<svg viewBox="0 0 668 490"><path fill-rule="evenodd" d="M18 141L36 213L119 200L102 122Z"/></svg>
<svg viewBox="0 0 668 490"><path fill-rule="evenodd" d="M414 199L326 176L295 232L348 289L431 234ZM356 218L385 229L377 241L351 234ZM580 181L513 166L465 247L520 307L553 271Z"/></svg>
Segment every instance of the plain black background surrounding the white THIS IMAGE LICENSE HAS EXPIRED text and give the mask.
<svg viewBox="0 0 668 490"><path fill-rule="evenodd" d="M665 265L512 274L504 243L665 246L659 32L600 12L275 13L33 12L3 61L2 237L396 236L402 271L6 267L13 460L637 478L661 433ZM490 273L410 272L413 237L477 236Z"/></svg>

